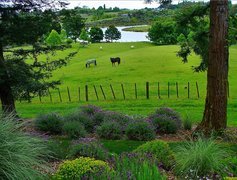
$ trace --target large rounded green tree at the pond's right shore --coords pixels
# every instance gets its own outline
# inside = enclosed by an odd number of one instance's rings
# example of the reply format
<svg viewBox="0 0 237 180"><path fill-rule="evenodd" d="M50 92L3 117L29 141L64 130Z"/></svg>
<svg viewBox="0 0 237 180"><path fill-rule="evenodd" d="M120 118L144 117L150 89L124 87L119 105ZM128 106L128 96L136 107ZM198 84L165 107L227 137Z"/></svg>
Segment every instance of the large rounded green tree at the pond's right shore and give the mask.
<svg viewBox="0 0 237 180"><path fill-rule="evenodd" d="M156 44L175 44L177 42L177 34L175 32L175 22L156 21L148 32L148 37Z"/></svg>

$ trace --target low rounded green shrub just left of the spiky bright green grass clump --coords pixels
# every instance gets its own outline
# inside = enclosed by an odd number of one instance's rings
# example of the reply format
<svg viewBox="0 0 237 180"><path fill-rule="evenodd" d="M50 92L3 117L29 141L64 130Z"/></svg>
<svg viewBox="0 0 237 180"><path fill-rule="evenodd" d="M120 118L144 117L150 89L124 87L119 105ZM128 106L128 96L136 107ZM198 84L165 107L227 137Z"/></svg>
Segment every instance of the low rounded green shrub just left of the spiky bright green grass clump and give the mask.
<svg viewBox="0 0 237 180"><path fill-rule="evenodd" d="M174 155L169 145L161 140L147 142L134 150L136 153L152 154L160 166L169 169L174 164Z"/></svg>

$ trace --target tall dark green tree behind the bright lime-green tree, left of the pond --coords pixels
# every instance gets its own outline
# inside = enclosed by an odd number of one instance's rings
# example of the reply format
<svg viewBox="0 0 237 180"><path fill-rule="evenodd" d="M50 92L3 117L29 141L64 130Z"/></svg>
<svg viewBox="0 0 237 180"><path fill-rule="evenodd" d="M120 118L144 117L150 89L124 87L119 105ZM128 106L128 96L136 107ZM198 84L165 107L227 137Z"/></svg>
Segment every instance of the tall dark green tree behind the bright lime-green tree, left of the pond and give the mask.
<svg viewBox="0 0 237 180"><path fill-rule="evenodd" d="M76 42L81 30L85 27L85 20L75 9L64 9L61 11L61 16L63 29L66 30L68 37Z"/></svg>

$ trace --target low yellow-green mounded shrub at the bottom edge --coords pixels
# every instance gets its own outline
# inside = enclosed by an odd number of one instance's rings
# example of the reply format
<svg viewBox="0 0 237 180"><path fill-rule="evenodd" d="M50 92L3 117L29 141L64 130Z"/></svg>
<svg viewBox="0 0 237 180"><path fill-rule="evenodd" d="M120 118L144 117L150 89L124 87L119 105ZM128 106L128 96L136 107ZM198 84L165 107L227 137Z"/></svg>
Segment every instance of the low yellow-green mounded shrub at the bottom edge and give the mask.
<svg viewBox="0 0 237 180"><path fill-rule="evenodd" d="M99 178L100 174L111 171L109 165L101 160L89 157L80 157L72 161L64 161L59 165L53 179L89 179Z"/></svg>

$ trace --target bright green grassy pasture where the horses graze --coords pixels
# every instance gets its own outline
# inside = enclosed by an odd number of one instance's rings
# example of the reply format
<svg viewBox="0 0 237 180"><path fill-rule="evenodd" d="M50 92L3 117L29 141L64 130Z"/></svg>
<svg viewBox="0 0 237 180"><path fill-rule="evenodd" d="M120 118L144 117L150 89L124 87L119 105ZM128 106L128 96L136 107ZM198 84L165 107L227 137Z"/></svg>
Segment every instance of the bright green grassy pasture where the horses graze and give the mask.
<svg viewBox="0 0 237 180"><path fill-rule="evenodd" d="M131 49L131 46L134 46ZM100 50L102 47L103 50ZM57 111L66 114L83 104L95 104L104 109L123 112L126 114L147 115L157 107L169 106L179 111L184 117L188 115L194 122L202 118L206 73L194 73L192 66L198 65L199 57L192 55L190 62L183 64L176 56L178 46L154 46L151 43L101 43L91 44L82 48L74 44L72 49L58 52L57 57L79 49L79 53L69 62L68 66L54 73L55 79L60 79L59 87L63 102L59 101L58 91L50 90L52 103L49 97L43 97L42 102L35 98L32 103L17 103L17 110L23 117L32 118L37 114ZM110 57L120 57L120 66L112 67ZM42 57L43 58L43 57ZM96 58L97 66L85 68L87 59ZM237 46L230 48L230 98L228 105L228 123L236 126L237 121L237 86L235 75L237 73ZM145 83L150 82L150 99L146 99ZM160 96L157 98L158 84L160 83ZM170 97L167 89L170 84ZM176 97L176 86L179 85L179 98ZM190 98L188 99L187 86L190 83ZM196 82L200 90L197 98ZM124 85L126 100L123 100L121 83ZM134 83L137 84L138 99L135 99ZM114 100L110 84L116 94ZM85 102L85 85L89 89L89 102ZM106 95L100 90L102 85ZM99 101L96 98L96 87ZM68 100L67 87L70 90L71 101ZM81 91L79 102L78 87Z"/></svg>

